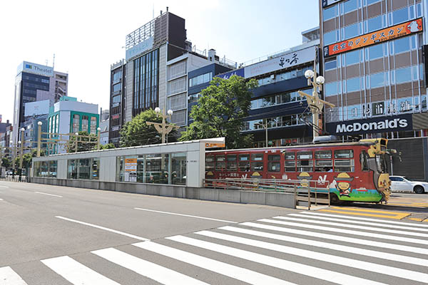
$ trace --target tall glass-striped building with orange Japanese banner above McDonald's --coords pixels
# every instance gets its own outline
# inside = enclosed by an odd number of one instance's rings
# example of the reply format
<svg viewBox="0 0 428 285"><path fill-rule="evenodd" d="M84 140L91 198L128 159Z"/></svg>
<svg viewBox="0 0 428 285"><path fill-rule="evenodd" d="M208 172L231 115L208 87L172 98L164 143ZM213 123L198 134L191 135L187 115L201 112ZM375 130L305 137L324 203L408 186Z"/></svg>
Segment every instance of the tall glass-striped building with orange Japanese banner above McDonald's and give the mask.
<svg viewBox="0 0 428 285"><path fill-rule="evenodd" d="M422 0L321 0L325 128L342 138L428 135Z"/></svg>

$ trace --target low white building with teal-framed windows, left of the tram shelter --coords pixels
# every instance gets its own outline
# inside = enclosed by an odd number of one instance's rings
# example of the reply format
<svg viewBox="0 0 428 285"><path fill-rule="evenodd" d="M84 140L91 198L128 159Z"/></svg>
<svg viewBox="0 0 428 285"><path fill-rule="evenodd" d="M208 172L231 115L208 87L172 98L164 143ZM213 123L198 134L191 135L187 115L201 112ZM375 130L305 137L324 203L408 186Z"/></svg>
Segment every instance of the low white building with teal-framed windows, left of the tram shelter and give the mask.
<svg viewBox="0 0 428 285"><path fill-rule="evenodd" d="M60 139L59 144L48 146L50 154L65 153L65 143L69 136L78 132L98 135L99 119L98 105L78 102L76 98L64 97L54 104L49 113L48 133L63 134L52 135L51 138Z"/></svg>

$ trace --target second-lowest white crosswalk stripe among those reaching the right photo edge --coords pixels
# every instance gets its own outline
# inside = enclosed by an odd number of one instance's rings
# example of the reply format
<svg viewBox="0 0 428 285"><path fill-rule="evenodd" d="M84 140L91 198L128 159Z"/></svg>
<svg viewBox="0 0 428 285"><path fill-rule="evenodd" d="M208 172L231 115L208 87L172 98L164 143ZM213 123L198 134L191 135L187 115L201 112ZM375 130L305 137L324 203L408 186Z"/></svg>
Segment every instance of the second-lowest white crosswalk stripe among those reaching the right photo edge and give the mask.
<svg viewBox="0 0 428 285"><path fill-rule="evenodd" d="M361 254L367 257L377 257L379 259L388 259L392 261L404 262L408 264L414 264L419 266L428 266L427 259L419 259L417 257L407 257L400 254L389 254L387 252L377 252L370 249L361 249L359 247L348 247L342 244L331 244L328 242L318 242L312 239L301 239L299 237L287 237L280 234L271 234L269 232L259 232L253 229L243 229L240 227L219 227L218 229L223 229L230 232L239 232L241 234L251 234L256 237L267 237L268 239L277 239L284 242L293 242L295 244L304 244L310 245L311 247L321 247L325 249L333 249L340 252L349 252L351 254ZM200 234L200 232L195 232L195 234ZM363 243L362 243L363 244ZM367 244L367 241L365 242Z"/></svg>

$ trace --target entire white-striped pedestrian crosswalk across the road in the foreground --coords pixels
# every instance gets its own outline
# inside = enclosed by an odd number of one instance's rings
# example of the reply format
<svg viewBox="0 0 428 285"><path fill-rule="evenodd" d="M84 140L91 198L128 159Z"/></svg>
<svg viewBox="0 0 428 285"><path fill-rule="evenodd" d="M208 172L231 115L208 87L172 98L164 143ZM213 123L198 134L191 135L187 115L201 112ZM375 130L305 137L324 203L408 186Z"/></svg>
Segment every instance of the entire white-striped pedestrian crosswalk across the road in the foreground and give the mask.
<svg viewBox="0 0 428 285"><path fill-rule="evenodd" d="M428 284L428 224L298 212L0 267L6 284Z"/></svg>

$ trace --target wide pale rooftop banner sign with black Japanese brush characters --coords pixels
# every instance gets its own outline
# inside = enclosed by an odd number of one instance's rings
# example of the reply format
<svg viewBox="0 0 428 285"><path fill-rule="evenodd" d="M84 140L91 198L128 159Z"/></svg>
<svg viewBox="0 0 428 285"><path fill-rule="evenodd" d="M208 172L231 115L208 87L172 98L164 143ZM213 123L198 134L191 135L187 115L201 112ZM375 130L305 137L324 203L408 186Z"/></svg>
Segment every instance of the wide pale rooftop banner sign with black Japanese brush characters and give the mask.
<svg viewBox="0 0 428 285"><path fill-rule="evenodd" d="M304 48L300 51L292 51L267 61L255 63L251 66L245 66L245 78L252 78L254 76L260 76L261 74L270 73L272 71L279 71L280 69L290 68L302 63L314 61L314 59L315 46Z"/></svg>

